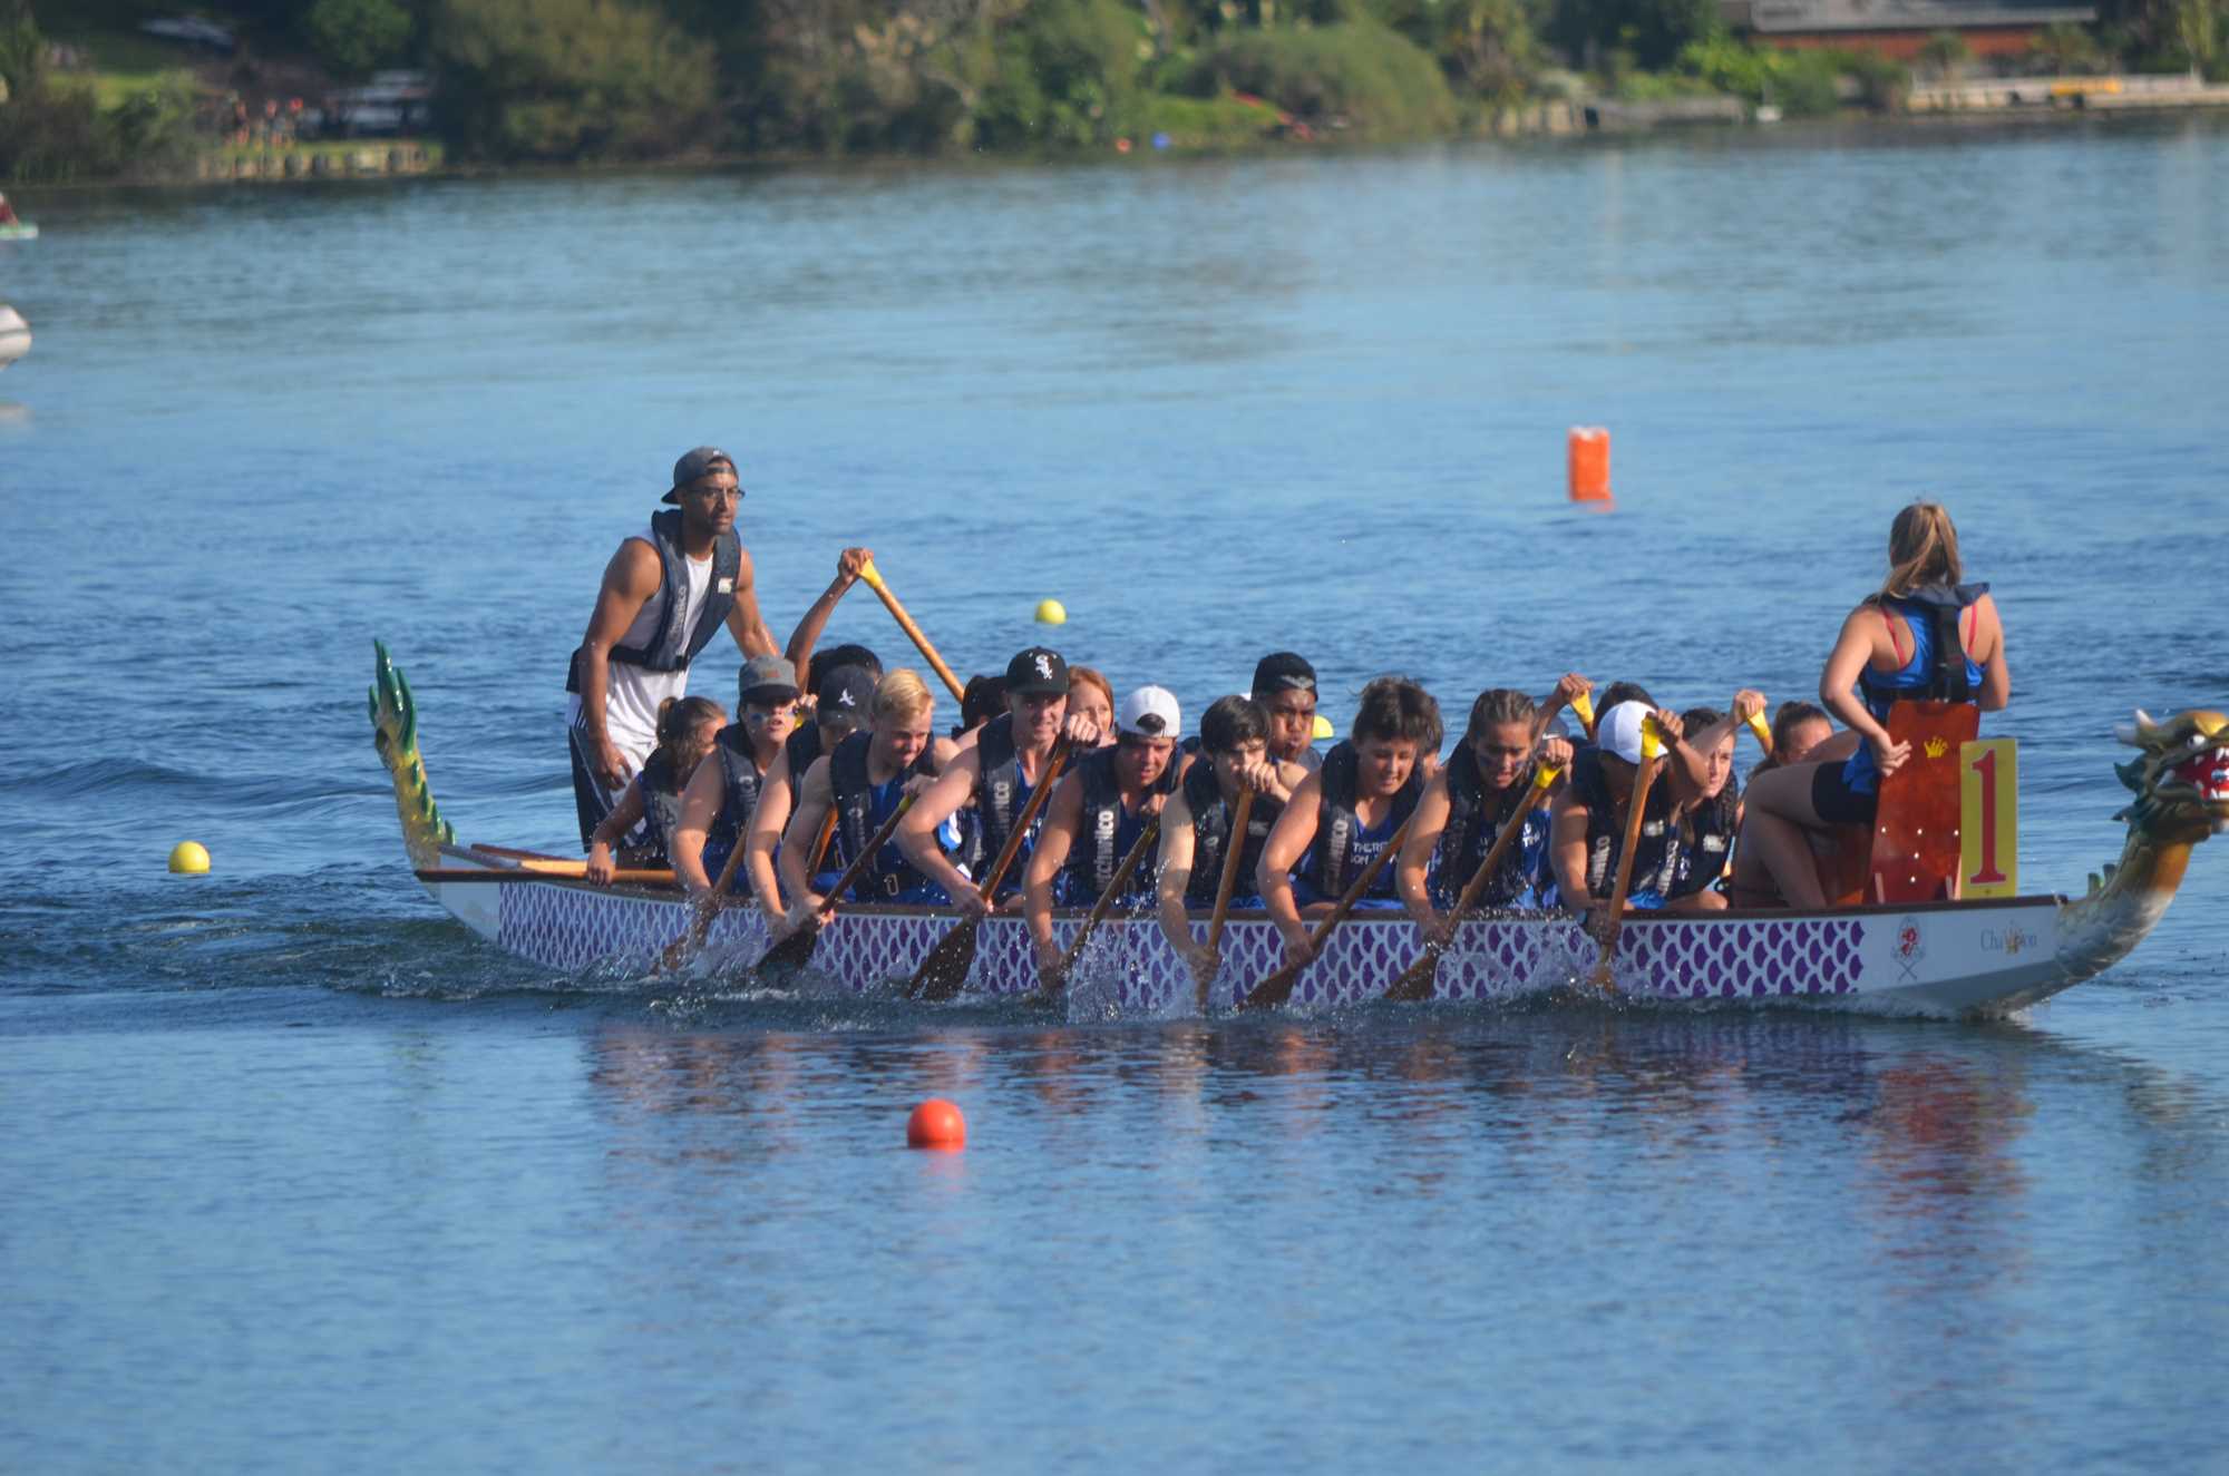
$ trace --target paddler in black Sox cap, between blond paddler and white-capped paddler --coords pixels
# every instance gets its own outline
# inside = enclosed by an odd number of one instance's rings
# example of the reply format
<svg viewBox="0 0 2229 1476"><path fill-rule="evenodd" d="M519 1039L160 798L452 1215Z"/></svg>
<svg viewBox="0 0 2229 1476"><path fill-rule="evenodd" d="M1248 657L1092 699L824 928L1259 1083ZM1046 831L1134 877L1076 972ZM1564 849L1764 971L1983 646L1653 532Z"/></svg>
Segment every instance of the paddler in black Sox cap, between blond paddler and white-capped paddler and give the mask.
<svg viewBox="0 0 2229 1476"><path fill-rule="evenodd" d="M1030 792L1043 783L1054 745L1063 738L1077 749L1099 745L1097 722L1068 716L1068 662L1045 647L1019 651L1005 664L1005 711L961 740L958 756L898 820L898 849L923 876L941 885L963 914L981 916L990 907L981 890L970 885L967 874L936 845L936 829L974 798L983 865L992 865L1005 838L1014 834ZM1023 843L1016 863L1025 865L1028 856ZM999 903L1005 905L1008 896L1019 892L1019 872L1010 870L999 885Z"/></svg>

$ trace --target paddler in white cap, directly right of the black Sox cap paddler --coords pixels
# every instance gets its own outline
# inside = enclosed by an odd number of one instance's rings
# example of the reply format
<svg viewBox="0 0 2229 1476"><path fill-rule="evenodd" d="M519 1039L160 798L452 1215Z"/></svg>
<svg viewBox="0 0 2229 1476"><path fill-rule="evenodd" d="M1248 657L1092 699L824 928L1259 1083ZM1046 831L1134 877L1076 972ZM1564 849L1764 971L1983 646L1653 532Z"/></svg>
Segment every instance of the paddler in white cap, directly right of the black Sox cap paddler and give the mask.
<svg viewBox="0 0 2229 1476"><path fill-rule="evenodd" d="M1184 778L1177 754L1181 727L1175 693L1139 687L1114 709L1114 745L1079 758L1045 800L1045 827L1023 878L1023 916L1045 983L1057 983L1061 965L1061 950L1052 943L1054 883L1061 883L1059 901L1070 907L1092 907L1106 896L1123 856ZM1152 890L1155 863L1148 856L1130 874L1123 896L1146 903Z"/></svg>

